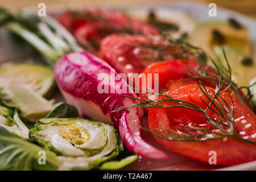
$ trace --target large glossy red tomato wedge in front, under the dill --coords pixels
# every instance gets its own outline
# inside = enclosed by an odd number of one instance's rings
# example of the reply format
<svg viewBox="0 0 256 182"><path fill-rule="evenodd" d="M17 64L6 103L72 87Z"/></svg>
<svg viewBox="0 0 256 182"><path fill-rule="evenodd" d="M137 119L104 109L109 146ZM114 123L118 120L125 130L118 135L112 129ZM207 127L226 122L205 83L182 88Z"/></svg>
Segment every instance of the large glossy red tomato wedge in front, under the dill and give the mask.
<svg viewBox="0 0 256 182"><path fill-rule="evenodd" d="M199 97L202 97L204 101L209 102L197 85L181 86L179 89L167 92L167 94L168 96L176 99L192 102L202 108L205 108L206 106ZM228 96L228 93L222 93L221 96L226 102L228 102L229 106L232 106L232 100ZM256 142L255 114L251 110L247 109L247 107L244 106L235 95L232 94L231 96L234 101L234 125L236 127L236 134ZM210 117L216 117L213 112L209 112L208 114ZM148 124L151 129L162 128L174 132L176 131L174 129L175 127L185 126L188 124L213 129L212 125L200 115L201 113L198 111L191 111L188 109L154 108L149 111ZM202 142L171 141L160 139L158 137L155 137L155 139L171 151L175 151L181 155L185 155L189 158L197 159L205 163L209 162L210 151L216 152L217 164L220 165L234 165L256 160L256 146L234 137L213 139Z"/></svg>

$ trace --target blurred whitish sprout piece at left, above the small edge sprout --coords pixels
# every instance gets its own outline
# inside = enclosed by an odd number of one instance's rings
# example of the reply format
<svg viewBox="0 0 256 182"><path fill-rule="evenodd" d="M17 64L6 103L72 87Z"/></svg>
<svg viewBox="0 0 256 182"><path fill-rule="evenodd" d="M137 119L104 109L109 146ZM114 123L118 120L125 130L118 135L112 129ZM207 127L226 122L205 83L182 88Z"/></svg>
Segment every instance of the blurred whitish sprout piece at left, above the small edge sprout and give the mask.
<svg viewBox="0 0 256 182"><path fill-rule="evenodd" d="M16 78L0 78L0 98L6 106L22 111L22 118L29 121L45 117L53 109L52 101L46 100L30 85Z"/></svg>

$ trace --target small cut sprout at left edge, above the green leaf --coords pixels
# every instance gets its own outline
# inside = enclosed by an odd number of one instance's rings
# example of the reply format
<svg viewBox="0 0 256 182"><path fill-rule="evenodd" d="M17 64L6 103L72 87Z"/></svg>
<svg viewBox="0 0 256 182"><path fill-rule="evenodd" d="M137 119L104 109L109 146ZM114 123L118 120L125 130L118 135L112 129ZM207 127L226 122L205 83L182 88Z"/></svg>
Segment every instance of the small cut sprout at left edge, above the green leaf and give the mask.
<svg viewBox="0 0 256 182"><path fill-rule="evenodd" d="M28 129L20 120L18 111L13 115L11 109L0 105L0 126L22 139L28 139Z"/></svg>

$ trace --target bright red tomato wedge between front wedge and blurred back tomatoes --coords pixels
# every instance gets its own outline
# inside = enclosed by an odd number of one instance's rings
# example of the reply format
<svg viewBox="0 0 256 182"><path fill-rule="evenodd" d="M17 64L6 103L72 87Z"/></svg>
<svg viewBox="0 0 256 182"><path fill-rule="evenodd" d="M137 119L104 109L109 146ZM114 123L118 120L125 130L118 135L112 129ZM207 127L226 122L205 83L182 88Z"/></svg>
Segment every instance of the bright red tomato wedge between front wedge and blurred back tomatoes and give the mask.
<svg viewBox="0 0 256 182"><path fill-rule="evenodd" d="M199 81L202 81L205 86L210 86L215 88L216 82L214 80L209 80L207 78L201 78L203 76L202 69L206 69L209 71L214 71L212 67L208 67L207 65L199 64L198 61L193 60L173 60L173 61L162 61L158 63L153 63L149 65L140 76L140 84L139 88L141 90L146 90L147 86L147 75L149 73L159 74L158 84L159 87L164 91L177 89L183 85L196 84ZM209 76L215 78L216 75L214 73L209 72ZM146 80L142 78L142 75L146 75ZM201 76L200 78L192 78L192 76ZM217 75L218 76L218 75ZM146 84L144 83L146 81ZM154 76L152 76L152 89L154 89ZM142 88L144 86L144 88ZM225 88L226 86L223 86ZM234 93L232 89L228 89L227 92ZM253 110L250 102L247 100L245 94L239 91L242 100L245 104ZM139 96L141 98L148 97L147 93L140 92ZM148 109L146 109L148 112Z"/></svg>

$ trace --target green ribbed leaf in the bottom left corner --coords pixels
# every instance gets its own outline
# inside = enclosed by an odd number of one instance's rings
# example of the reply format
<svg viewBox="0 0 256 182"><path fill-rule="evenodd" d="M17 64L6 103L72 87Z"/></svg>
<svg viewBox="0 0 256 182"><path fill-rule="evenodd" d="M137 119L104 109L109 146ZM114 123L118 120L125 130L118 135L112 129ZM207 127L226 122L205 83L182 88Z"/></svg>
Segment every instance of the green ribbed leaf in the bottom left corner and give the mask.
<svg viewBox="0 0 256 182"><path fill-rule="evenodd" d="M46 164L38 163L40 151L46 152ZM0 126L0 170L54 170L59 164L52 152L15 137Z"/></svg>

